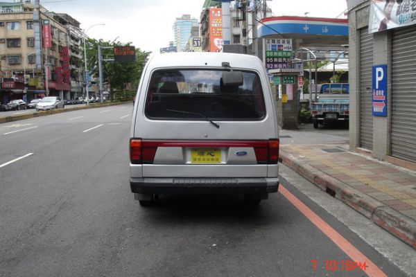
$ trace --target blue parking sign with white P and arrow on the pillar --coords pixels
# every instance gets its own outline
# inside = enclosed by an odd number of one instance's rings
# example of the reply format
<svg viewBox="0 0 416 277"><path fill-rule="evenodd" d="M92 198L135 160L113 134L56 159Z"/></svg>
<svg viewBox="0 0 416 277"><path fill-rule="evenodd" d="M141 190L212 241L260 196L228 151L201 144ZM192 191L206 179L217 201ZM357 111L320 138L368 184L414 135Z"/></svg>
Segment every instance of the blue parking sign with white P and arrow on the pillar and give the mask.
<svg viewBox="0 0 416 277"><path fill-rule="evenodd" d="M387 64L372 67L372 114L387 116Z"/></svg>

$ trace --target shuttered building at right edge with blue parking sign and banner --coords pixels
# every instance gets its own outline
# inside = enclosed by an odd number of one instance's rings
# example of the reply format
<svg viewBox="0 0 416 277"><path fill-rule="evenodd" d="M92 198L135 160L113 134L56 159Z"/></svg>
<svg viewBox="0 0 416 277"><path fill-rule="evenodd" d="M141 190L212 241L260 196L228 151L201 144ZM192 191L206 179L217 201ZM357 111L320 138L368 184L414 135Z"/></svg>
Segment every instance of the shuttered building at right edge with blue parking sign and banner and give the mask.
<svg viewBox="0 0 416 277"><path fill-rule="evenodd" d="M415 1L347 6L349 148L416 170Z"/></svg>

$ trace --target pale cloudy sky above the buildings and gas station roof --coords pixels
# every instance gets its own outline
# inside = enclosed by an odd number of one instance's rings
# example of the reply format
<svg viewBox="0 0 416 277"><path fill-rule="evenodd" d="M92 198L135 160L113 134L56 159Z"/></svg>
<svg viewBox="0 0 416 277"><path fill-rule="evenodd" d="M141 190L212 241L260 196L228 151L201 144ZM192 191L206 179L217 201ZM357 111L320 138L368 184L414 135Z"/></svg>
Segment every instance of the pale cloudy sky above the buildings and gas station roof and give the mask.
<svg viewBox="0 0 416 277"><path fill-rule="evenodd" d="M258 0L259 1L259 0ZM173 41L172 26L177 17L191 15L200 19L204 0L40 0L53 12L71 15L89 29L87 35L105 41L132 42L142 51L159 53ZM346 0L268 0L274 16L345 18ZM94 26L94 24L105 24Z"/></svg>

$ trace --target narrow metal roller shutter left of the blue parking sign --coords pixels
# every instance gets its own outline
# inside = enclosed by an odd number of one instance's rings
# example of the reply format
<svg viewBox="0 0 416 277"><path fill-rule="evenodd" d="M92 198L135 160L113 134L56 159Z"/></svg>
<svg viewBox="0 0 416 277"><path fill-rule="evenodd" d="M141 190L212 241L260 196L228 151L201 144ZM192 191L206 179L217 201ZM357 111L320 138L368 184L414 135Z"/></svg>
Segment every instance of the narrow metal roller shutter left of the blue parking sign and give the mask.
<svg viewBox="0 0 416 277"><path fill-rule="evenodd" d="M360 146L373 147L372 116L373 36L368 29L360 30Z"/></svg>

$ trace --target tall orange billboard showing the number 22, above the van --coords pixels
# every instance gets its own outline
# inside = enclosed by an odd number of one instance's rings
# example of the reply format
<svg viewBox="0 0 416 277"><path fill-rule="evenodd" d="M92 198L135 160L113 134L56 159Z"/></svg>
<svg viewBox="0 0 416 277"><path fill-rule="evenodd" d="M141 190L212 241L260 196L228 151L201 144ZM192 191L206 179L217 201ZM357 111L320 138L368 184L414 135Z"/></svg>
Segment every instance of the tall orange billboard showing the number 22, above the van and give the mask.
<svg viewBox="0 0 416 277"><path fill-rule="evenodd" d="M209 52L223 51L223 13L221 8L209 8Z"/></svg>

